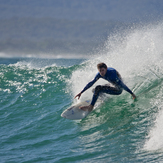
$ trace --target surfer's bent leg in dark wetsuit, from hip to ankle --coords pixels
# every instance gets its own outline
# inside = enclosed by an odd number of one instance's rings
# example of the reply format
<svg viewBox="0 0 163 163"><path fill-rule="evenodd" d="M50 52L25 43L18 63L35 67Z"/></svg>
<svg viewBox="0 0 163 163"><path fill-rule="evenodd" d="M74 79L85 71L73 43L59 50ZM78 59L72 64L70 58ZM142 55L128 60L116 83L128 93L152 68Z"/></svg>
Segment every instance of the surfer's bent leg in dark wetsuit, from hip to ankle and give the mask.
<svg viewBox="0 0 163 163"><path fill-rule="evenodd" d="M95 88L91 105L92 106L95 105L100 93L107 93L107 94L111 94L111 95L120 95L122 93L122 91L123 91L123 89L119 86L111 87L109 85L104 85L104 86L98 85Z"/></svg>

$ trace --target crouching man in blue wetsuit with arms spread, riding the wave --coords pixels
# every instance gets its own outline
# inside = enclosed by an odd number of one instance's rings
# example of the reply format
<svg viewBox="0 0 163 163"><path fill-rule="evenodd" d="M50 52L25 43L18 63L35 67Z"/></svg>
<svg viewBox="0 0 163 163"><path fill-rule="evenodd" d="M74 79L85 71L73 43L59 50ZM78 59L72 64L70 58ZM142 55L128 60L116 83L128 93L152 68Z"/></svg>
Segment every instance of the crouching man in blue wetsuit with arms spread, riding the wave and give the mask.
<svg viewBox="0 0 163 163"><path fill-rule="evenodd" d="M113 86L110 85L98 85L96 86L93 94L91 104L89 106L82 106L80 109L92 111L98 96L100 93L107 93L111 95L120 95L123 89L129 92L133 99L136 99L135 94L123 83L121 75L114 68L107 67L105 63L97 64L98 73L95 78L89 82L84 89L78 93L76 97L80 98L81 94L90 88L99 78L103 78L110 82Z"/></svg>

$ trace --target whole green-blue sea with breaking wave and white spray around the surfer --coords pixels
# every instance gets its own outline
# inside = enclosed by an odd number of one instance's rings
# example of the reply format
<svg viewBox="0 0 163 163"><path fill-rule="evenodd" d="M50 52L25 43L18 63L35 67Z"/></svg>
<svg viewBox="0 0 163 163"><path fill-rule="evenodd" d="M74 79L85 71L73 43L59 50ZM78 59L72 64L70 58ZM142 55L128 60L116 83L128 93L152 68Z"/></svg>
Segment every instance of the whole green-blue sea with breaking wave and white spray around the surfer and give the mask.
<svg viewBox="0 0 163 163"><path fill-rule="evenodd" d="M0 162L163 162L163 25L117 32L89 57L0 58ZM107 96L83 120L61 113L105 62L126 91ZM100 79L97 84L105 84Z"/></svg>

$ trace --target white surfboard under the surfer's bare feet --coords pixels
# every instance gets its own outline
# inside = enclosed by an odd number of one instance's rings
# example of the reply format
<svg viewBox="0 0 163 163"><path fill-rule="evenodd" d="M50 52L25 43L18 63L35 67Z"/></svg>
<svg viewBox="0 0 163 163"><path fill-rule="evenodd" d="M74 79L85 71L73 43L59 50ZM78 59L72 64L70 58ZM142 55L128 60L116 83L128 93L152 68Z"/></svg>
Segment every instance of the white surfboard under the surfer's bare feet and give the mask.
<svg viewBox="0 0 163 163"><path fill-rule="evenodd" d="M88 111L88 110L87 111L84 111L82 109L79 109L79 107L81 107L81 106L88 106L89 104L90 104L90 101L80 102L80 103L78 103L76 105L73 105L73 106L69 107L65 111L63 111L63 113L61 114L61 116L63 118L72 119L72 120L83 119L91 111Z"/></svg>

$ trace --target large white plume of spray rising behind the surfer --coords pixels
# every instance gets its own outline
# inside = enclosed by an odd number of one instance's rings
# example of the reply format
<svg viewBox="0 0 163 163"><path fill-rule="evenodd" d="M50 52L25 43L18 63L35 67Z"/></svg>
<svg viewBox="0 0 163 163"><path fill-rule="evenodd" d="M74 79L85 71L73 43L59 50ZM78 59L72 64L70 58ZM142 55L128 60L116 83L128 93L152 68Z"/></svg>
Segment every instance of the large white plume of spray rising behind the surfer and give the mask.
<svg viewBox="0 0 163 163"><path fill-rule="evenodd" d="M163 24L138 26L127 29L122 33L114 33L108 37L105 48L95 54L90 60L72 73L71 89L73 95L79 93L97 73L96 65L105 62L108 67L117 69L124 82L131 88L139 84L133 81L135 76L145 76L148 69L162 64L163 54ZM104 81L98 81L94 87ZM87 90L82 98L91 98L91 91ZM87 96L87 97L86 97Z"/></svg>

